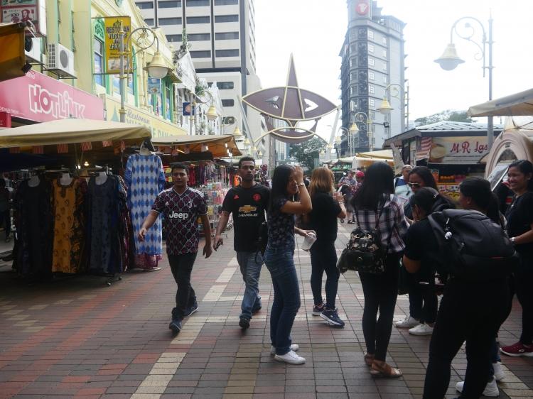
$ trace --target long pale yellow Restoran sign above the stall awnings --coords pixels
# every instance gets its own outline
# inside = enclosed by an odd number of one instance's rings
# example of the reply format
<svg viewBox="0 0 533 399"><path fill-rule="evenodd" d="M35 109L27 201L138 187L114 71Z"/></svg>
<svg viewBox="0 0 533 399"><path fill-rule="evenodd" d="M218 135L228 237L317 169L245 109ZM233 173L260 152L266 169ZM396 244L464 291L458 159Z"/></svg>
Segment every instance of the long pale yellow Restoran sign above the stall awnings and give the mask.
<svg viewBox="0 0 533 399"><path fill-rule="evenodd" d="M105 95L104 97L106 120L107 121L120 121L120 102L113 97ZM157 116L143 111L142 109L135 108L134 106L126 105L126 124L135 124L146 126L150 129L152 137L168 137L168 136L183 136L187 134L185 129L172 124L170 121L165 121Z"/></svg>

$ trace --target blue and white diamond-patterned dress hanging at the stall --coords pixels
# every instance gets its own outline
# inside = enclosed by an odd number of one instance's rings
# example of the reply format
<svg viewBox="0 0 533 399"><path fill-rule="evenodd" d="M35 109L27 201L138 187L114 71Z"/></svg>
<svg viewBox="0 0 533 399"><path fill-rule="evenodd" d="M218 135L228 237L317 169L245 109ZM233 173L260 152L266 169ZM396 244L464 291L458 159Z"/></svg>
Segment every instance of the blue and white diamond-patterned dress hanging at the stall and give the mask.
<svg viewBox="0 0 533 399"><path fill-rule="evenodd" d="M158 217L144 241L139 241L137 231L151 211L152 204L165 185L163 163L157 155L134 154L128 158L124 180L129 187L128 207L135 237L135 266L155 268L163 253L163 229Z"/></svg>

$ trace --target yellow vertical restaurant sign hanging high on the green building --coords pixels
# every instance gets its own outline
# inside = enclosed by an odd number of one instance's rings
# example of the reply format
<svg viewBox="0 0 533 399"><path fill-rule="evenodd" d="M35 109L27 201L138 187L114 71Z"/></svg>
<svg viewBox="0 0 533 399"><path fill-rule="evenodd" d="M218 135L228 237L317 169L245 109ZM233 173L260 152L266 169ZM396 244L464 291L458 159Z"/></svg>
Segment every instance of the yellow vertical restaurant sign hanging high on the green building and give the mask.
<svg viewBox="0 0 533 399"><path fill-rule="evenodd" d="M120 73L120 41L124 40L124 52L131 54L131 41L128 43L129 33L131 33L131 18L129 16L107 16L104 17L105 26L105 60L106 73ZM124 71L132 72L133 62L124 58Z"/></svg>

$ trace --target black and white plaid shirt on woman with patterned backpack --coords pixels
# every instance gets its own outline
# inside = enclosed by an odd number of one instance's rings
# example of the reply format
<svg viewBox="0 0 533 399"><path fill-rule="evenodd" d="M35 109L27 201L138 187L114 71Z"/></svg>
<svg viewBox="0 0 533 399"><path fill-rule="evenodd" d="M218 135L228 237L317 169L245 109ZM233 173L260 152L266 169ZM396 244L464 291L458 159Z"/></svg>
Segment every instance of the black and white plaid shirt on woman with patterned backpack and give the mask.
<svg viewBox="0 0 533 399"><path fill-rule="evenodd" d="M375 229L376 219L379 212L383 209L381 217L379 217L379 225L377 226L382 248L387 248L390 239L387 252L402 252L405 248L402 237L405 236L407 229L409 228L409 224L407 224L407 220L405 219L402 200L396 195L390 195L389 198L384 195L383 199L385 200L385 203L383 207L377 209L377 212L367 209L360 209L359 211L354 209L357 223L363 230Z"/></svg>

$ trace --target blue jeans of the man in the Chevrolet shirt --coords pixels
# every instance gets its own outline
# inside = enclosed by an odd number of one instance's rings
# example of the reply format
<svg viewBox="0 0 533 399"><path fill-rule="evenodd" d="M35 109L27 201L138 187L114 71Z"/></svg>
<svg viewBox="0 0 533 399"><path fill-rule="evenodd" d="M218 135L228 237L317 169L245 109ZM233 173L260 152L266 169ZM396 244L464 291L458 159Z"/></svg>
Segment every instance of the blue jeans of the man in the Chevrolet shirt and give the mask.
<svg viewBox="0 0 533 399"><path fill-rule="evenodd" d="M259 296L259 276L263 266L263 256L261 252L237 252L237 262L241 269L244 288L242 297L240 317L252 318L252 313L261 308L261 297Z"/></svg>

